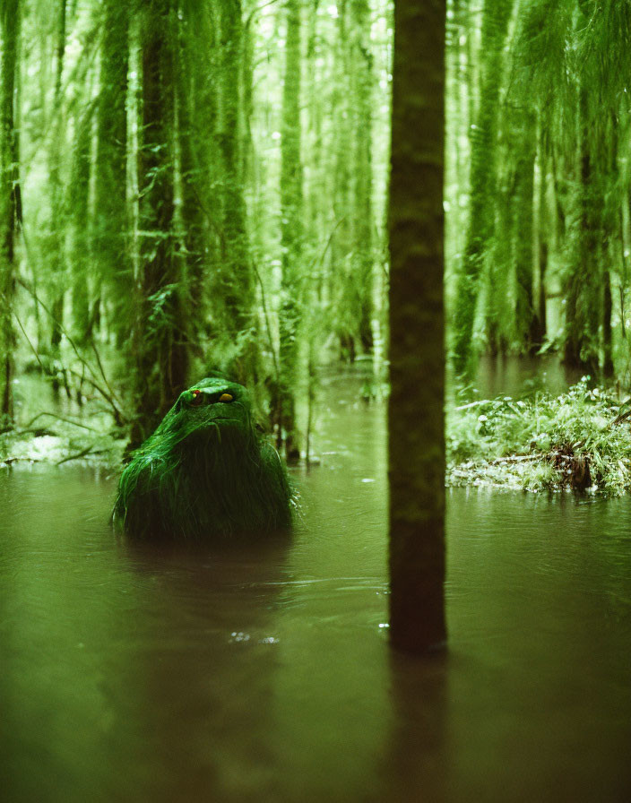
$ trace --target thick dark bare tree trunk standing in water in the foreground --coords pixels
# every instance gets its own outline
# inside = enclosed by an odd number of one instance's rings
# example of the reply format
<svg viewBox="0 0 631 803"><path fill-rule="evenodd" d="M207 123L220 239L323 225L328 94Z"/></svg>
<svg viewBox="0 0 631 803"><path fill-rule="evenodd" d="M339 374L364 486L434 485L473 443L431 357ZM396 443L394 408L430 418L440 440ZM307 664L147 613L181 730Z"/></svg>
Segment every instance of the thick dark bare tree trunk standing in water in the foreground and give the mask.
<svg viewBox="0 0 631 803"><path fill-rule="evenodd" d="M445 643L445 0L396 0L390 182L390 636Z"/></svg>

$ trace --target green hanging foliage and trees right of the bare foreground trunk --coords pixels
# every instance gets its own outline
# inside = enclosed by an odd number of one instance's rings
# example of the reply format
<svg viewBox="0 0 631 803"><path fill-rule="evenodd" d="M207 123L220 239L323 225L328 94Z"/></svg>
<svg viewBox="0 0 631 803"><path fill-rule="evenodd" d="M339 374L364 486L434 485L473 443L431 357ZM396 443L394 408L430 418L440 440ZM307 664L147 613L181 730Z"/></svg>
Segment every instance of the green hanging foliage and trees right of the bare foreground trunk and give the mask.
<svg viewBox="0 0 631 803"><path fill-rule="evenodd" d="M620 375L631 4L527 0L512 13L510 5L486 2L474 19L471 3L453 4L454 367L471 376L485 348L560 348L567 365Z"/></svg>

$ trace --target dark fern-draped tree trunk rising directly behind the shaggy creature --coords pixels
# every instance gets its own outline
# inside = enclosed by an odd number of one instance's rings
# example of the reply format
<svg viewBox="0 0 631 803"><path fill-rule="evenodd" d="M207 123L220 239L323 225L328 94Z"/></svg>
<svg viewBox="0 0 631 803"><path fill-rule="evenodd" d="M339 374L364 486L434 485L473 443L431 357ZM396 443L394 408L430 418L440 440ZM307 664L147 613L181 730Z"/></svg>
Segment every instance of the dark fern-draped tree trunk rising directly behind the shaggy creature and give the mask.
<svg viewBox="0 0 631 803"><path fill-rule="evenodd" d="M186 384L186 282L175 254L175 20L172 0L143 4L141 266L136 293L132 443L151 433Z"/></svg>

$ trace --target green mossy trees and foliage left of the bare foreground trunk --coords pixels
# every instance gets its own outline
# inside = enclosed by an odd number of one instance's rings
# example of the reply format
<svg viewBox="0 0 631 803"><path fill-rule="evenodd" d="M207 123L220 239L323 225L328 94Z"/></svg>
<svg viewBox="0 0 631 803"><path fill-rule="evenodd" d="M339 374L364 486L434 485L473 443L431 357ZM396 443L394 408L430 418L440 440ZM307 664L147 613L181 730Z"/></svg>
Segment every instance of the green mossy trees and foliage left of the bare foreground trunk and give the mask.
<svg viewBox="0 0 631 803"><path fill-rule="evenodd" d="M384 330L389 0L4 5L0 410L34 358L138 445L221 366L302 453L339 322Z"/></svg>

